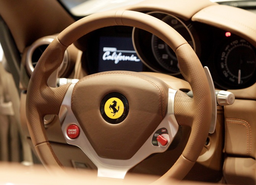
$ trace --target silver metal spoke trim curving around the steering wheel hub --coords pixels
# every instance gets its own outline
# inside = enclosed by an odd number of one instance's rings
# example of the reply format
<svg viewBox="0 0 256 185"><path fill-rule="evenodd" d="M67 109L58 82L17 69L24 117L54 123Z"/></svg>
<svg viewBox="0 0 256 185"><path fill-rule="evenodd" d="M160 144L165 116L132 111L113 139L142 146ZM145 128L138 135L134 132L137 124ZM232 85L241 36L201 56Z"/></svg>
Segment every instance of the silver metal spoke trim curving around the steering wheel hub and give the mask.
<svg viewBox="0 0 256 185"><path fill-rule="evenodd" d="M71 95L74 86L75 84L71 84L68 88L60 108L59 118L61 122L62 132L68 144L75 145L81 148L81 150L83 150L83 152L91 159L91 161L94 162L94 164L98 168L98 177L124 179L128 170L141 162L143 159L147 158L147 156L152 153L160 153L166 151L178 132L179 125L174 116L174 97L177 91L169 89L167 114L165 115L159 126L156 128L156 130L144 143L144 145L141 146L141 148L134 154L134 156L127 160L101 158L97 155L96 151L89 143L89 140L87 139L83 130L80 129L80 135L76 139L71 139L66 134L66 129L70 124L76 124L79 128L81 128L79 122L77 121L75 115L71 110ZM152 145L152 137L154 133L163 127L168 130L169 134L169 142L167 146L161 147Z"/></svg>

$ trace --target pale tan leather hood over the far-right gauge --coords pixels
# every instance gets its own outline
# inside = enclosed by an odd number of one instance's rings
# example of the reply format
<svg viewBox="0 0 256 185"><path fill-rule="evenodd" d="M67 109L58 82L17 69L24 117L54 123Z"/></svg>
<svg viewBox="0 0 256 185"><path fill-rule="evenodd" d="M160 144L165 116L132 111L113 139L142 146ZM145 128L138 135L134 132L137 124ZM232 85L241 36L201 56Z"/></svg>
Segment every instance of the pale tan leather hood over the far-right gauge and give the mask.
<svg viewBox="0 0 256 185"><path fill-rule="evenodd" d="M194 14L192 21L230 31L256 47L256 15L250 11L227 5L212 5Z"/></svg>

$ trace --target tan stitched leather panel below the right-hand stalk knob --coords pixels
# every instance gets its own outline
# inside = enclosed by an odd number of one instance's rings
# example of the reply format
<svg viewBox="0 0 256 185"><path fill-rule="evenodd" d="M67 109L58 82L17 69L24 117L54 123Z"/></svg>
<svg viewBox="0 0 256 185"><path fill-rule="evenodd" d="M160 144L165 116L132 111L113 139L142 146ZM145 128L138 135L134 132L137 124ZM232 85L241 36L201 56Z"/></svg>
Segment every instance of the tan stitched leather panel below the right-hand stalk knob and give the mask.
<svg viewBox="0 0 256 185"><path fill-rule="evenodd" d="M256 101L236 99L233 105L224 108L225 152L255 158Z"/></svg>

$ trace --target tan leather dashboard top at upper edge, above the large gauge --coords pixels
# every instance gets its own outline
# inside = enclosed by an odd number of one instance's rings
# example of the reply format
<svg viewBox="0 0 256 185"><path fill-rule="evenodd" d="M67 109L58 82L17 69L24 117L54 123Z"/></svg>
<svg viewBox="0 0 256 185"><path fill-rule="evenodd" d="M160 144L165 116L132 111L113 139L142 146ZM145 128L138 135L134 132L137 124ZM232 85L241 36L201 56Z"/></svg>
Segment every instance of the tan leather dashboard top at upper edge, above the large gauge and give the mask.
<svg viewBox="0 0 256 185"><path fill-rule="evenodd" d="M126 10L161 11L188 20L199 10L214 4L216 3L212 3L209 0L197 0L196 3L191 0L164 0L161 3L156 0L146 0L134 6L127 7Z"/></svg>

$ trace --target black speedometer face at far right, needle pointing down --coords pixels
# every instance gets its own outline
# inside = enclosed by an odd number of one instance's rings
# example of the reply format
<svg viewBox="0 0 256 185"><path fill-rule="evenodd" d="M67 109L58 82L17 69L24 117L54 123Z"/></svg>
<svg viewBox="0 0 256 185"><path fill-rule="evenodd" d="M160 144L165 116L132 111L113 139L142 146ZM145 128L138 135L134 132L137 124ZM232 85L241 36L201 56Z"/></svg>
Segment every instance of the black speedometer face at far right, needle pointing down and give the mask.
<svg viewBox="0 0 256 185"><path fill-rule="evenodd" d="M218 69L224 82L231 87L254 83L256 56L254 47L244 39L235 39L221 50Z"/></svg>

